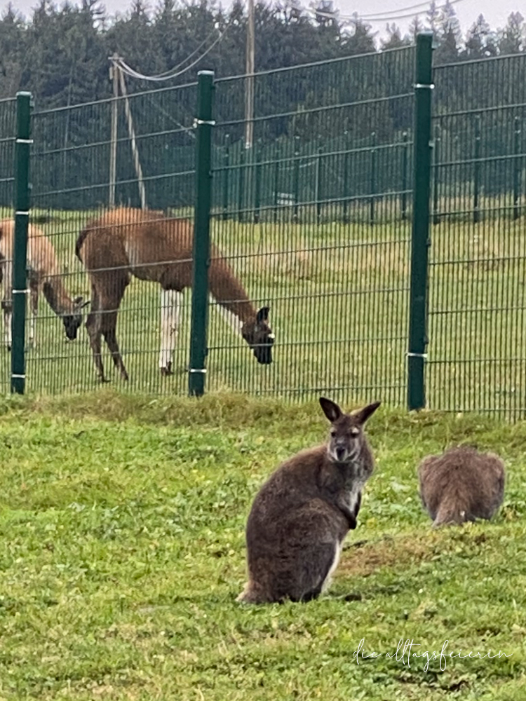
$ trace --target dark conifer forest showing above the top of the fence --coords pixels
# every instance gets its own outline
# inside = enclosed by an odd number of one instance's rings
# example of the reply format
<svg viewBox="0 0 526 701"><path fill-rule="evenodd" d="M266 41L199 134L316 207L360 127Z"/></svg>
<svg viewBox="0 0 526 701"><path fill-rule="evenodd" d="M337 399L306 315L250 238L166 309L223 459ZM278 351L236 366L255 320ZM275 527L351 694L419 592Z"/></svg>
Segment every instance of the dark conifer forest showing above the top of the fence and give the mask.
<svg viewBox="0 0 526 701"><path fill-rule="evenodd" d="M386 38L378 40L366 22L310 17L299 11L296 0L271 0L255 6L255 68L262 71L410 46L424 28L433 29L436 36L436 65L526 51L525 20L518 12L501 28L491 28L480 15L463 34L454 7L446 3L438 10L433 2L405 36L390 25ZM244 4L236 0L224 10L214 0L161 0L149 9L144 0L133 0L127 13L110 17L97 0L82 0L79 6L40 0L29 19L8 6L0 20L0 98L30 90L39 109L47 109L109 97L108 57L114 52L142 74L161 74L177 64L187 66L187 57L204 42L194 57L203 53L218 31L224 36L203 60L169 85L194 80L200 68L214 69L223 77L243 74ZM163 84L167 83L156 86ZM132 93L151 87L144 81L128 81Z"/></svg>

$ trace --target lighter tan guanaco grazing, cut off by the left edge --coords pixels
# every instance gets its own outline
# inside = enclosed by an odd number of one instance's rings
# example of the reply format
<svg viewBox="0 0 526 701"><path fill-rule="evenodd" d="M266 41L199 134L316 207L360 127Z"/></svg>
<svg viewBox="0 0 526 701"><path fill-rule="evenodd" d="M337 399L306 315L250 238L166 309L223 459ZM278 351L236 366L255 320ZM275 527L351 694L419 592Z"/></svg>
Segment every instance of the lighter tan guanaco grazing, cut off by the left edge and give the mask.
<svg viewBox="0 0 526 701"><path fill-rule="evenodd" d="M2 307L6 313L6 323L11 317L11 290L13 238L15 222L13 219L0 221L0 259L4 283ZM27 267L28 283L31 294L31 311L34 317L38 313L39 294L43 292L49 306L62 318L69 339L76 338L76 332L82 323L82 297L72 299L62 282L62 274L55 254L55 249L43 231L29 224L27 228Z"/></svg>

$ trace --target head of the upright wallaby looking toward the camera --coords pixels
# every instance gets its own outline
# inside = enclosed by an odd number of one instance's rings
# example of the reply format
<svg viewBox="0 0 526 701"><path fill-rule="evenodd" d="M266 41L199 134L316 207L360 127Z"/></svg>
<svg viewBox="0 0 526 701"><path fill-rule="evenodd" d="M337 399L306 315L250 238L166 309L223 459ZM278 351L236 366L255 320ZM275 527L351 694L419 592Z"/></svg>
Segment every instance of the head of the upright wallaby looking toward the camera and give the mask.
<svg viewBox="0 0 526 701"><path fill-rule="evenodd" d="M323 413L331 423L327 453L335 463L352 463L358 459L365 437L363 425L380 406L380 402L367 404L367 407L344 414L342 409L330 399L320 397Z"/></svg>

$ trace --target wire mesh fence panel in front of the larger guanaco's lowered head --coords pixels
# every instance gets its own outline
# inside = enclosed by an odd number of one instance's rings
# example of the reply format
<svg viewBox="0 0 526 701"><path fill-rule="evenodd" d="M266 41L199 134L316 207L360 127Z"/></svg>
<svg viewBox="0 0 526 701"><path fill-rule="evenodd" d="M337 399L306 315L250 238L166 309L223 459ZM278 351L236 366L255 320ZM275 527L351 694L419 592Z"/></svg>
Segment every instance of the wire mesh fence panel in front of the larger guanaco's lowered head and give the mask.
<svg viewBox="0 0 526 701"><path fill-rule="evenodd" d="M404 48L257 74L248 149L246 78L217 81L213 238L276 342L258 364L215 301L210 388L403 403L413 62Z"/></svg>

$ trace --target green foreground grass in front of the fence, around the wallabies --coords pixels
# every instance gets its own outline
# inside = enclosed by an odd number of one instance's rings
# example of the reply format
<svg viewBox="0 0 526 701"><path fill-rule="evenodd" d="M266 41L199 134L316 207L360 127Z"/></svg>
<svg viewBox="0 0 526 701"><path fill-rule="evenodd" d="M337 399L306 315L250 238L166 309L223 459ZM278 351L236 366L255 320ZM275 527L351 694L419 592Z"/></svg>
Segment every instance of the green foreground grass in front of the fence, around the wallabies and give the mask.
<svg viewBox="0 0 526 701"><path fill-rule="evenodd" d="M236 604L252 498L325 428L316 404L270 398L3 400L0 698L522 701L526 423L382 407L328 594ZM505 503L494 522L433 532L417 463L459 442L503 456ZM357 665L362 638L382 656ZM424 671L386 658L400 639L511 656Z"/></svg>

